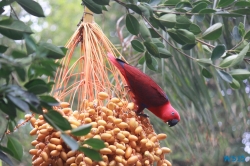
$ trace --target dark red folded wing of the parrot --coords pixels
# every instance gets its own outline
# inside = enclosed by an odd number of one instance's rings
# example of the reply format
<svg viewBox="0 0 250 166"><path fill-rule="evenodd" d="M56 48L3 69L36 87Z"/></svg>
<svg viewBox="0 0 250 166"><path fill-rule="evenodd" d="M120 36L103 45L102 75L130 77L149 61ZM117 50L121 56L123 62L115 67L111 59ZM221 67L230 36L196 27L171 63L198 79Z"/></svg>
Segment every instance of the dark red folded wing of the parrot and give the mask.
<svg viewBox="0 0 250 166"><path fill-rule="evenodd" d="M154 107L168 102L165 92L153 79L125 62L122 66L125 79L138 103L145 105L145 107Z"/></svg>

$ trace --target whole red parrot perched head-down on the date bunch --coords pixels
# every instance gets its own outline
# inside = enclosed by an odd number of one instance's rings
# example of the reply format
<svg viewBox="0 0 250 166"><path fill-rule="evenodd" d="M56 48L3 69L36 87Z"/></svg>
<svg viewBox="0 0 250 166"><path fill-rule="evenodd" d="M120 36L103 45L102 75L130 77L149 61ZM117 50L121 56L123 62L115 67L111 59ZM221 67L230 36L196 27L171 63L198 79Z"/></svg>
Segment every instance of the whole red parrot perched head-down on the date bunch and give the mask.
<svg viewBox="0 0 250 166"><path fill-rule="evenodd" d="M172 107L165 92L149 76L121 59L115 58L111 53L108 53L108 59L119 69L134 94L133 98L138 105L137 115L147 116L142 113L143 109L147 108L170 127L180 121L179 113Z"/></svg>

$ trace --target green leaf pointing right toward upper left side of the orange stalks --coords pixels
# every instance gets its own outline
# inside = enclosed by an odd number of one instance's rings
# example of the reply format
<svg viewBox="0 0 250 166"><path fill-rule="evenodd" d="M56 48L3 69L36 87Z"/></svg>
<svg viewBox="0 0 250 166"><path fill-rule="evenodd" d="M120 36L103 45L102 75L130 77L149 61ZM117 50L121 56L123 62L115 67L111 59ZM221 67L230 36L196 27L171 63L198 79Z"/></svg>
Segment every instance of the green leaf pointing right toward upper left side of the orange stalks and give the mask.
<svg viewBox="0 0 250 166"><path fill-rule="evenodd" d="M63 58L65 55L60 47L57 47L51 43L42 42L39 44L39 46L48 51L47 52L48 58L60 59Z"/></svg>

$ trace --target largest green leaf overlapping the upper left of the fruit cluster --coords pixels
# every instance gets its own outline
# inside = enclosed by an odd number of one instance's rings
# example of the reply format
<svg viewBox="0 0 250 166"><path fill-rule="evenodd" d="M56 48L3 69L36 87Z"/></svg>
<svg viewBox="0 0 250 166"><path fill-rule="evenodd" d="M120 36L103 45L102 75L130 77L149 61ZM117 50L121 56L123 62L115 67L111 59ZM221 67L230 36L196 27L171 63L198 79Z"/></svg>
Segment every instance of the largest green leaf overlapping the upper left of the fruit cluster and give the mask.
<svg viewBox="0 0 250 166"><path fill-rule="evenodd" d="M65 119L59 112L54 110L49 110L44 114L45 120L56 129L59 128L63 131L71 130L72 127L67 119Z"/></svg>

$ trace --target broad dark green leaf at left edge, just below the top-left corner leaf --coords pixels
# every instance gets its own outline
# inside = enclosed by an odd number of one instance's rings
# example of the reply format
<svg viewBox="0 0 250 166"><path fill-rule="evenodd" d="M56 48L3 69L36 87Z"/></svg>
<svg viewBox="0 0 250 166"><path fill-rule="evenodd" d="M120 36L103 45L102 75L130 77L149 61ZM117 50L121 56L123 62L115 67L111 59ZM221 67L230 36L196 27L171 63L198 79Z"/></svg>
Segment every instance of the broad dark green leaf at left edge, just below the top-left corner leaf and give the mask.
<svg viewBox="0 0 250 166"><path fill-rule="evenodd" d="M13 40L21 40L24 34L31 34L33 32L22 21L5 19L0 21L0 33Z"/></svg>

